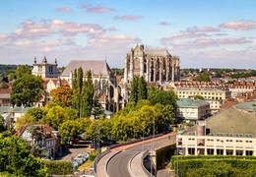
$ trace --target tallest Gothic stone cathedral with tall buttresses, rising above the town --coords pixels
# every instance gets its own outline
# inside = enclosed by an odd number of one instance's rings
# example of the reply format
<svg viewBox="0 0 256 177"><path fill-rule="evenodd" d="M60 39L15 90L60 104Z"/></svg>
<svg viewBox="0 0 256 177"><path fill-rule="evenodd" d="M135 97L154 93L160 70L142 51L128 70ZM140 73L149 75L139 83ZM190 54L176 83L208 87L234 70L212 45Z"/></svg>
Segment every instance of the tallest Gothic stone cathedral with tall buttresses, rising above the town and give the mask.
<svg viewBox="0 0 256 177"><path fill-rule="evenodd" d="M150 84L179 80L179 57L165 48L137 45L125 58L124 81L129 84L134 76L144 77Z"/></svg>

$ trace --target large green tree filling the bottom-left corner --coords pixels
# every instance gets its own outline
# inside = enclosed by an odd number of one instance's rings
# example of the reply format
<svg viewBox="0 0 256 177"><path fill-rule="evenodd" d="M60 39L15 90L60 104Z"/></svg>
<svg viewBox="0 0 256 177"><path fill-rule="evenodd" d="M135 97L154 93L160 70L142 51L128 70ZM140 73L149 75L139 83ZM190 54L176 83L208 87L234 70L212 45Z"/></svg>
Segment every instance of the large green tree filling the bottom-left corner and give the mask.
<svg viewBox="0 0 256 177"><path fill-rule="evenodd" d="M12 176L46 176L45 165L30 153L27 143L18 137L0 139L0 171Z"/></svg>

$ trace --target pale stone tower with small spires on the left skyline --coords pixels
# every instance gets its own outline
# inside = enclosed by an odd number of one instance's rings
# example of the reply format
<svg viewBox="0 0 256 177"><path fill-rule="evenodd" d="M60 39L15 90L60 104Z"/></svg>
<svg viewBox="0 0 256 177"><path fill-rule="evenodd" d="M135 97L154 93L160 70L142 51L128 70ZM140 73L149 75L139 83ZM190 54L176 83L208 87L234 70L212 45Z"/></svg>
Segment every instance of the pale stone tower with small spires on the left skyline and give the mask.
<svg viewBox="0 0 256 177"><path fill-rule="evenodd" d="M34 76L39 76L41 78L58 78L60 76L57 59L55 59L54 63L48 63L44 56L42 62L37 63L36 58L34 57L32 66L32 75Z"/></svg>

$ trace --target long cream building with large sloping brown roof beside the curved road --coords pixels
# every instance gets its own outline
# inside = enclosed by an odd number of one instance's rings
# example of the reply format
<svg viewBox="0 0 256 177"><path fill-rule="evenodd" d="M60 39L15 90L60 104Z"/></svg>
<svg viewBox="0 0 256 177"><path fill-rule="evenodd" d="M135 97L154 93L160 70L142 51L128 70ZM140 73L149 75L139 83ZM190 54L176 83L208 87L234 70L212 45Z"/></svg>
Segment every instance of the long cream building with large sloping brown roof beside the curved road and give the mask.
<svg viewBox="0 0 256 177"><path fill-rule="evenodd" d="M183 155L256 155L256 101L235 104L177 136Z"/></svg>

